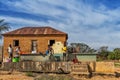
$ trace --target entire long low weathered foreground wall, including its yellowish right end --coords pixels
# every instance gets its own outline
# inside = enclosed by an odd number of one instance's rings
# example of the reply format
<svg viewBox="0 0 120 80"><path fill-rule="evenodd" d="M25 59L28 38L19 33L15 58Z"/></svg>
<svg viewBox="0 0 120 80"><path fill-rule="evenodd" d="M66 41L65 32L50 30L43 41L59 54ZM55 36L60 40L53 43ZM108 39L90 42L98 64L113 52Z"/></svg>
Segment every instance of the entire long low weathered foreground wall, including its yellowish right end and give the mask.
<svg viewBox="0 0 120 80"><path fill-rule="evenodd" d="M73 74L88 74L87 64L90 63L72 63L72 62L42 62L42 61L23 61L17 63L5 62L2 68L5 70L10 70L11 67L19 71L47 71L54 72L62 68L64 71L71 72ZM95 71L97 73L114 73L114 62L96 62ZM93 65L90 65L93 67ZM94 67L93 67L94 68ZM93 69L91 68L91 69ZM89 70L90 71L90 70Z"/></svg>

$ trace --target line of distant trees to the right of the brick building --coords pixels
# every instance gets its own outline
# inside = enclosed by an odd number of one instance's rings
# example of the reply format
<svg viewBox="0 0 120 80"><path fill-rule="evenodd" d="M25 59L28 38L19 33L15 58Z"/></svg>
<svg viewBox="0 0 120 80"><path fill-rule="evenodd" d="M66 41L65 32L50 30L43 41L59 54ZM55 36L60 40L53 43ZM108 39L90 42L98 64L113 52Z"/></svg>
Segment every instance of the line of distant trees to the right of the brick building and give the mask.
<svg viewBox="0 0 120 80"><path fill-rule="evenodd" d="M120 60L120 48L109 51L108 46L102 46L95 50L85 43L71 43L68 46L68 53L97 54L97 60Z"/></svg>

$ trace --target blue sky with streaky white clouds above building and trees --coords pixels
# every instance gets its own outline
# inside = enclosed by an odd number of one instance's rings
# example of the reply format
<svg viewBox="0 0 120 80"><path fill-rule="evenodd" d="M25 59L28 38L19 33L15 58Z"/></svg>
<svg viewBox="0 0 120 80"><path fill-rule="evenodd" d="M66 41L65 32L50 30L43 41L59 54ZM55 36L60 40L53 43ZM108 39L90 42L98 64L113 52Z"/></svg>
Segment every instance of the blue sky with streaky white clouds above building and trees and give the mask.
<svg viewBox="0 0 120 80"><path fill-rule="evenodd" d="M51 26L68 33L68 43L120 47L120 0L0 0L0 19L11 30Z"/></svg>

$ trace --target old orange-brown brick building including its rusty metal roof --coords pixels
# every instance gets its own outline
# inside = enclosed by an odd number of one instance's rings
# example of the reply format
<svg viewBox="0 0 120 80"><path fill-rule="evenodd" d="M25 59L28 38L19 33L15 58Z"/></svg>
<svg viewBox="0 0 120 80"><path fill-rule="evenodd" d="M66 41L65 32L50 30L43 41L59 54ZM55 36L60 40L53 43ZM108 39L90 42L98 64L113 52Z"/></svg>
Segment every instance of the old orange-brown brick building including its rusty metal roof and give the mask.
<svg viewBox="0 0 120 80"><path fill-rule="evenodd" d="M4 36L4 56L8 56L7 48L9 44L13 48L20 46L23 53L30 54L36 50L37 53L45 53L48 45L64 44L67 41L67 33L51 27L23 27L3 34Z"/></svg>

